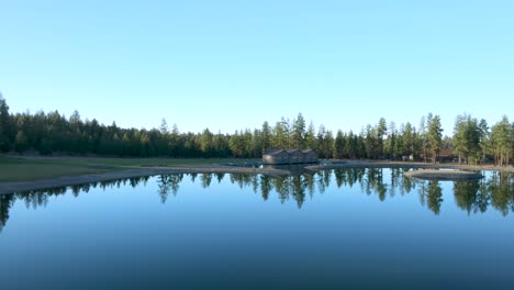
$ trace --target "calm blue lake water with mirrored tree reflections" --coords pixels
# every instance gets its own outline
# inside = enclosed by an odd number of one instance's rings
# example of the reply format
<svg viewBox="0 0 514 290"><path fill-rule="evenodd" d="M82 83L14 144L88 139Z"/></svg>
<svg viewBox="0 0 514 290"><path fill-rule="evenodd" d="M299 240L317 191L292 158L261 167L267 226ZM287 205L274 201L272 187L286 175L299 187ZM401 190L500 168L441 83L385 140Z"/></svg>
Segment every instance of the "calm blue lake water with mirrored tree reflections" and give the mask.
<svg viewBox="0 0 514 290"><path fill-rule="evenodd" d="M0 196L1 289L514 289L514 177L175 175Z"/></svg>

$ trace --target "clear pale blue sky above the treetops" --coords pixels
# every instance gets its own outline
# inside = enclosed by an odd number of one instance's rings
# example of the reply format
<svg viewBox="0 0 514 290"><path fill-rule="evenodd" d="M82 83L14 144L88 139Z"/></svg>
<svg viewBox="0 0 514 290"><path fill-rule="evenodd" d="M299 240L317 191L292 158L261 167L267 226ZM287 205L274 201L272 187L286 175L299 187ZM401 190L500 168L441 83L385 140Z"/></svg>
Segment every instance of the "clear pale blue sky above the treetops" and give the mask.
<svg viewBox="0 0 514 290"><path fill-rule="evenodd" d="M0 1L11 112L233 133L514 112L514 1Z"/></svg>

